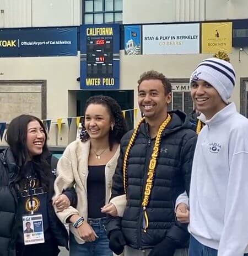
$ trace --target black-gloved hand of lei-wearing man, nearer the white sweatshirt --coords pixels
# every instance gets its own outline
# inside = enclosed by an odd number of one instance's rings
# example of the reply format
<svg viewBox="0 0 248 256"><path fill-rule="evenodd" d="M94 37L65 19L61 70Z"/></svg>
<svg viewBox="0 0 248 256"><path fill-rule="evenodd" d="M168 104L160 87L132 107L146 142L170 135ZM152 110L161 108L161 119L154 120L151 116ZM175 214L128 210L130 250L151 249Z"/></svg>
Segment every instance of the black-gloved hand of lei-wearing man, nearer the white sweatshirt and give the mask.
<svg viewBox="0 0 248 256"><path fill-rule="evenodd" d="M176 250L175 244L169 238L154 246L148 256L173 256Z"/></svg>

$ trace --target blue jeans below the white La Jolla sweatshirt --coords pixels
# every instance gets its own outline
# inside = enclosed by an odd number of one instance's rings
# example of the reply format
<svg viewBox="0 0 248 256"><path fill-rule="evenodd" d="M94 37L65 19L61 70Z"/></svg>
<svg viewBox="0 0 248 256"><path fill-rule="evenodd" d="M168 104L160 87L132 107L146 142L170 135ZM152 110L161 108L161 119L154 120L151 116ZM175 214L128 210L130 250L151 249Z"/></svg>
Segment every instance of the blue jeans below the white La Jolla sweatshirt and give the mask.
<svg viewBox="0 0 248 256"><path fill-rule="evenodd" d="M207 247L199 243L196 238L190 236L190 255L189 256L217 256L218 250ZM248 256L244 254L244 256Z"/></svg>

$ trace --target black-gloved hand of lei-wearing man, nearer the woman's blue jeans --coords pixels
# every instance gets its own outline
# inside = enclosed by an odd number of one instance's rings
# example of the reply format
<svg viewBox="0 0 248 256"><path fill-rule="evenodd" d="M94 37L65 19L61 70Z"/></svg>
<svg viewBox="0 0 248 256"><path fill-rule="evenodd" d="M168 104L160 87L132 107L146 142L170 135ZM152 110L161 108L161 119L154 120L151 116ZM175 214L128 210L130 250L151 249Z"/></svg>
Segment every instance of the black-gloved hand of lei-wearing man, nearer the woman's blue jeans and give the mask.
<svg viewBox="0 0 248 256"><path fill-rule="evenodd" d="M121 229L114 229L110 232L109 248L117 255L120 255L126 245L125 238L121 232Z"/></svg>

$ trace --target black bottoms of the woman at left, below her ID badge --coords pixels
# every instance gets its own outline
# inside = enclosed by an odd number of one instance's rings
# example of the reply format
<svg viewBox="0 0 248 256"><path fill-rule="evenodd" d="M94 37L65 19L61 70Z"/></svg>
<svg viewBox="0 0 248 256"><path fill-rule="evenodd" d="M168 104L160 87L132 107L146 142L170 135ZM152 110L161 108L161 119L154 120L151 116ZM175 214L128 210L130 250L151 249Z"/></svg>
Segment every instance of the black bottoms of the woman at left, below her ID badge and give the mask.
<svg viewBox="0 0 248 256"><path fill-rule="evenodd" d="M52 240L40 244L17 244L16 256L57 256L60 253L58 246Z"/></svg>

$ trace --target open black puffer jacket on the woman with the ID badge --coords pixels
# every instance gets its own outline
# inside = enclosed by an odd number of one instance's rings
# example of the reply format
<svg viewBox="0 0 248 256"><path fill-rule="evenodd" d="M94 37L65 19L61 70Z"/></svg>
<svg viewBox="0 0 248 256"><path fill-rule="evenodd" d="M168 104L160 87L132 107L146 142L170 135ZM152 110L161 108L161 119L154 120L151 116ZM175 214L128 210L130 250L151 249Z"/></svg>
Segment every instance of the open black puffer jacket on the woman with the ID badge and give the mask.
<svg viewBox="0 0 248 256"><path fill-rule="evenodd" d="M49 159L51 163L51 159ZM53 161L53 160L52 160ZM0 153L0 256L15 256L15 241L17 239L17 192L13 182L17 177L19 166L15 164L10 149ZM68 233L64 225L58 220L52 206L53 182L55 175L50 176L48 188L48 221L53 238L57 245L68 248ZM73 204L77 203L74 191L67 191L73 198Z"/></svg>

